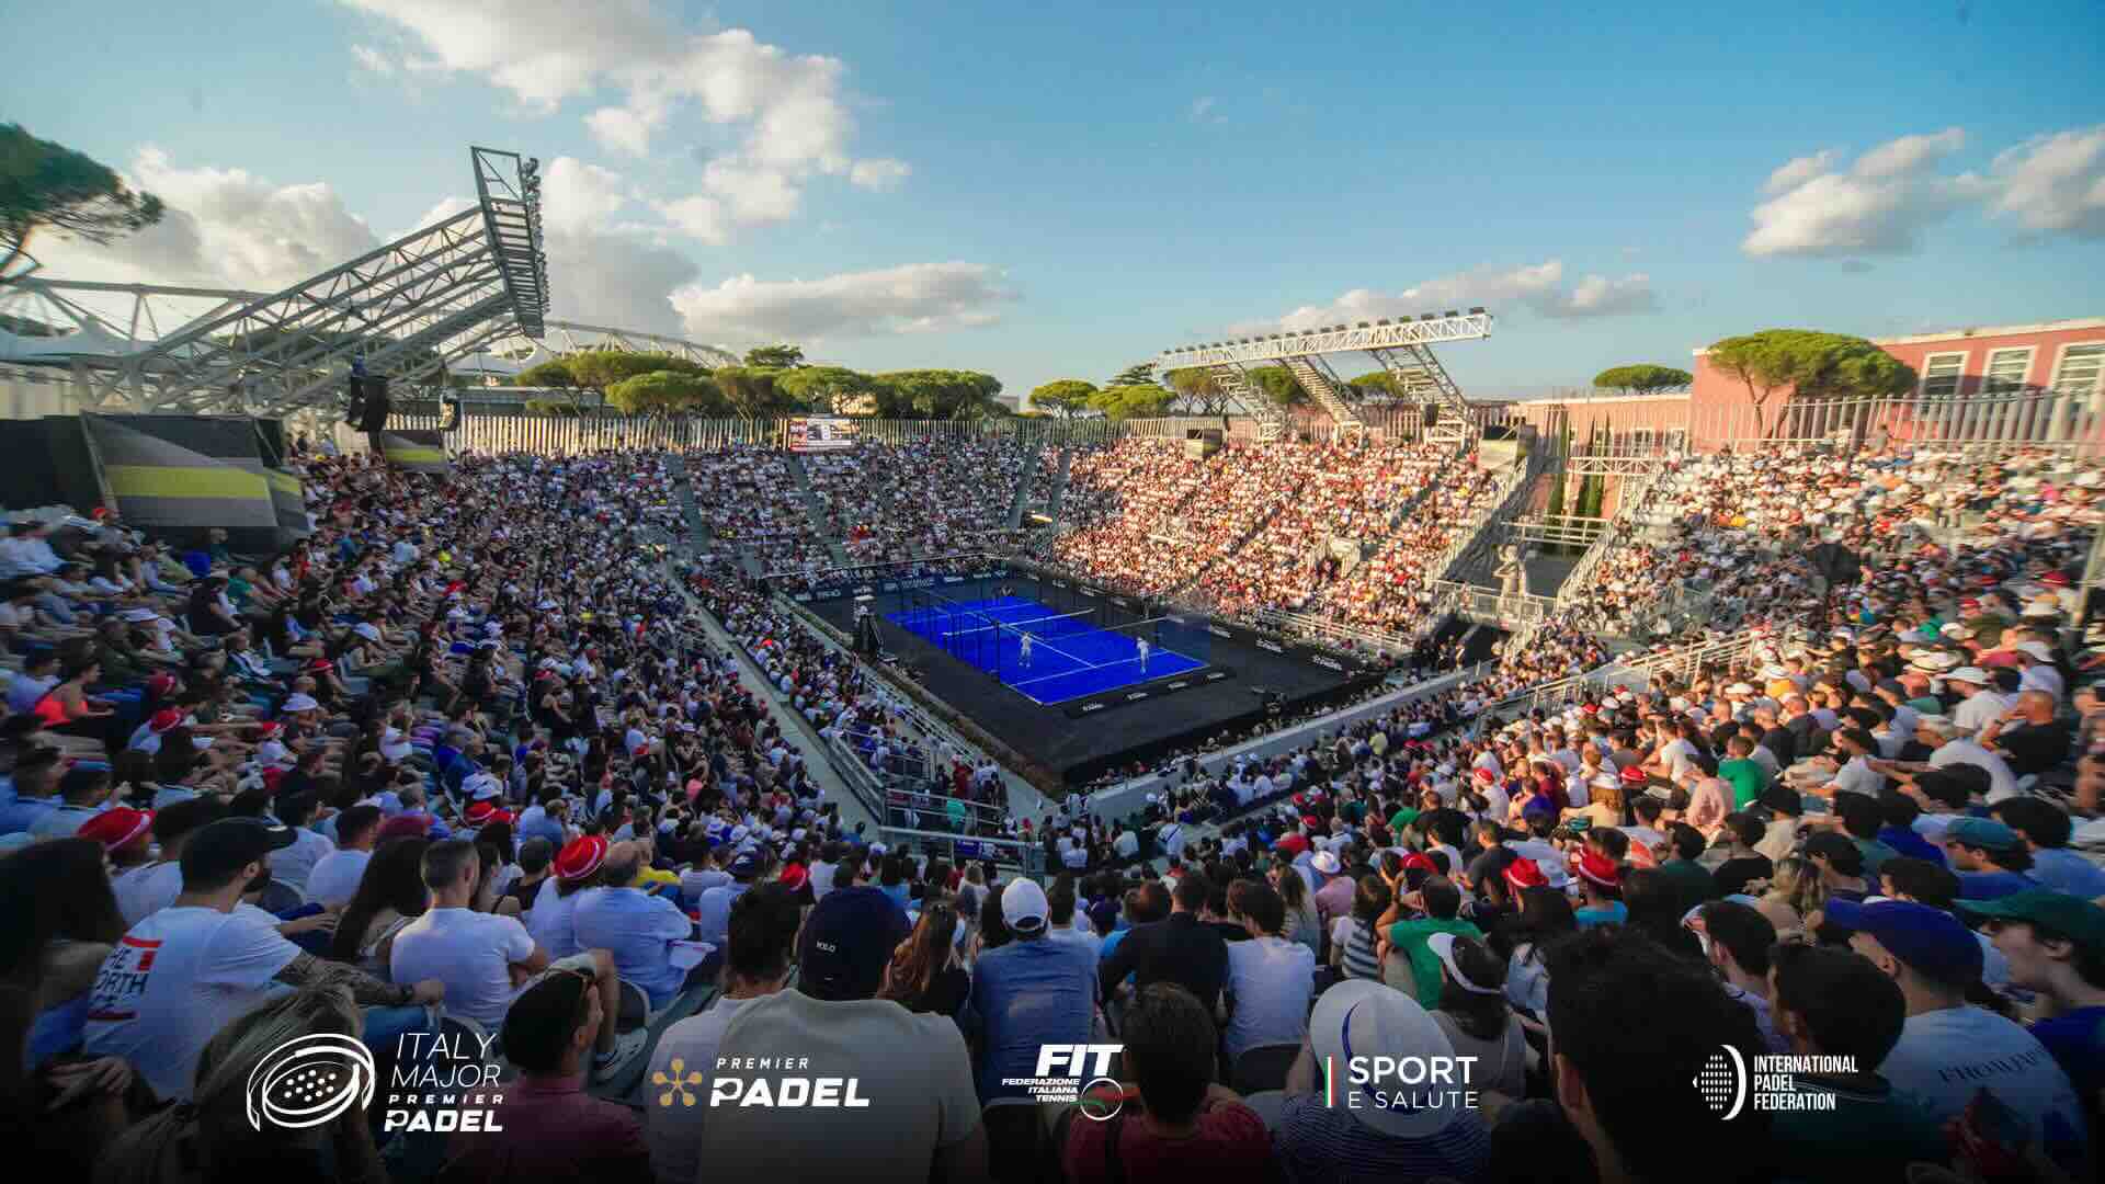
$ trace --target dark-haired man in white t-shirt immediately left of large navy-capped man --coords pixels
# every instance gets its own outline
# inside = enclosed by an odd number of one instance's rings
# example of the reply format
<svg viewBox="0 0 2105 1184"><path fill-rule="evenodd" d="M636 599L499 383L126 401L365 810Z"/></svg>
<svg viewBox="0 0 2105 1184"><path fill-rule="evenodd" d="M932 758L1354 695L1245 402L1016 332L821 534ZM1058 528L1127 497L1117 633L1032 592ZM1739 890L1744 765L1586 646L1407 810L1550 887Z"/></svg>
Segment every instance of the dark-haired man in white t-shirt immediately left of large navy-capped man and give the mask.
<svg viewBox="0 0 2105 1184"><path fill-rule="evenodd" d="M667 1093L657 1081L686 1083L678 1089L697 1100L709 1098L716 1074L716 1049L730 1022L747 1003L766 999L789 978L789 954L796 944L802 910L785 885L760 885L730 906L730 946L724 954L724 992L699 1013L680 1020L659 1037L650 1051L650 1072L636 1087L632 1104L644 1108L644 1136L650 1142L650 1173L659 1184L695 1184L701 1171L701 1129L709 1106L659 1106ZM680 1068L674 1068L680 1062ZM701 1074L699 1081L695 1074Z"/></svg>

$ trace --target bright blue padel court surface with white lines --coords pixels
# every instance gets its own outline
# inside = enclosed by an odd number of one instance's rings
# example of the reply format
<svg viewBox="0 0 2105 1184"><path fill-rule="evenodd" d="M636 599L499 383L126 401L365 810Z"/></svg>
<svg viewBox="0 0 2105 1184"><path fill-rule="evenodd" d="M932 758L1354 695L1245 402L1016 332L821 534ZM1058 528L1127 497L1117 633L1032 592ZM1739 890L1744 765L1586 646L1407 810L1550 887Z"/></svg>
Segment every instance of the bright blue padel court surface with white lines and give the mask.
<svg viewBox="0 0 2105 1184"><path fill-rule="evenodd" d="M1055 611L1023 596L928 598L884 619L1038 704L1063 704L1206 666L1202 657L1172 649L1200 649L1194 643L1202 643L1202 634L1194 636L1196 630L1168 617L1103 626L1095 607Z"/></svg>

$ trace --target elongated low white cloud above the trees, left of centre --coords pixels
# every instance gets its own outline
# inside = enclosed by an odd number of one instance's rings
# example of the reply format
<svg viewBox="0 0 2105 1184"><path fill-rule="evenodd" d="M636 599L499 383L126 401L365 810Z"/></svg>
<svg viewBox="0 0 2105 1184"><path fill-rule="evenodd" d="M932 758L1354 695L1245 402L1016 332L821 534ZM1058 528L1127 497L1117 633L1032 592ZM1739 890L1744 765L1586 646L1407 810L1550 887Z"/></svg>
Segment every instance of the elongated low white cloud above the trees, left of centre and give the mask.
<svg viewBox="0 0 2105 1184"><path fill-rule="evenodd" d="M701 341L825 341L994 324L1017 295L983 263L907 263L823 280L735 276L671 299Z"/></svg>

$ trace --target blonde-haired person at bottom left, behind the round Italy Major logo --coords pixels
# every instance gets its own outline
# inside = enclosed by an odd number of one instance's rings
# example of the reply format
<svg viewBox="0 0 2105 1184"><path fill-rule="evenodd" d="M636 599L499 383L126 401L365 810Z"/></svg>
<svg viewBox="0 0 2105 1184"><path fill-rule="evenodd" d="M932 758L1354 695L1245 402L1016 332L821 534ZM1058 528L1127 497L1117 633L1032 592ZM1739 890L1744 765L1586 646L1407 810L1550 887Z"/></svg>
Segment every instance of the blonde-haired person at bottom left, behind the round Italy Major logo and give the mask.
<svg viewBox="0 0 2105 1184"><path fill-rule="evenodd" d="M196 1096L122 1131L95 1165L97 1184L328 1178L385 1184L366 1108L356 1100L320 1127L248 1121L248 1079L299 1037L358 1039L362 1022L341 986L303 988L240 1015L198 1058Z"/></svg>

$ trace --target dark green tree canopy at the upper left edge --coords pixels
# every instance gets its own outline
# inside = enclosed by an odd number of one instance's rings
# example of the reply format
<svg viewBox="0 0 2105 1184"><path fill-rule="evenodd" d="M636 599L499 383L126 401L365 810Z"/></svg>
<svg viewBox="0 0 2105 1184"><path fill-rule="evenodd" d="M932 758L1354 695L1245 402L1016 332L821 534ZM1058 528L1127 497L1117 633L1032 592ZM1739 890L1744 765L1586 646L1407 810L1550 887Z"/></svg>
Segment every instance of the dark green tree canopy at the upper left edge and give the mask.
<svg viewBox="0 0 2105 1184"><path fill-rule="evenodd" d="M160 198L135 194L116 169L21 124L0 124L0 276L42 228L109 242L154 225L162 213Z"/></svg>

